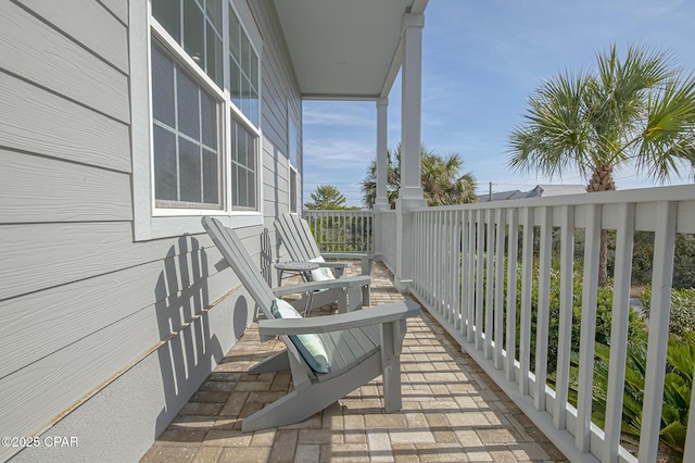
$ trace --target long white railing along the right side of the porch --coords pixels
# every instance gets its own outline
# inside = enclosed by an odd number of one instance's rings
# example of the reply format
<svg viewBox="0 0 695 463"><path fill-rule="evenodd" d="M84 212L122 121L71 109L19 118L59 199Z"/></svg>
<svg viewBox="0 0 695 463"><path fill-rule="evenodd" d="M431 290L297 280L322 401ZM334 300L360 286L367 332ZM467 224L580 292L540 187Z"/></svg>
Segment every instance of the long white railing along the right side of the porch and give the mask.
<svg viewBox="0 0 695 463"><path fill-rule="evenodd" d="M640 461L656 461L674 238L695 233L695 186L428 208L414 212L414 296L570 460L582 462L637 461L621 446L632 248L635 230L654 232L644 408L632 450ZM391 226L395 217L384 226L389 236ZM615 230L616 248L599 428L592 423L592 398L602 228ZM582 233L584 250L576 255L574 238ZM559 278L553 302L552 278ZM582 284L579 339L572 339L574 278ZM559 313L552 330L551 310ZM557 352L551 372L548 348ZM695 441L695 430L687 439ZM695 461L695 445L685 452L684 461Z"/></svg>

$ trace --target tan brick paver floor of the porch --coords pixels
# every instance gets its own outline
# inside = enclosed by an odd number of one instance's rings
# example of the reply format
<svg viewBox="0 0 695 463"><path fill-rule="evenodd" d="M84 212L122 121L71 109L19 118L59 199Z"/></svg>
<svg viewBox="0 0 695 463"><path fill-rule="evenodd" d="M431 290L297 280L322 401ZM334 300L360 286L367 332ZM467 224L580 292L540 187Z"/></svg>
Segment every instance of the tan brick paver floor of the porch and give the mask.
<svg viewBox="0 0 695 463"><path fill-rule="evenodd" d="M383 265L372 278L372 305L403 299ZM261 343L256 328L247 330L141 462L566 461L426 311L408 321L401 412L384 414L379 377L303 423L241 433L244 416L292 388L289 372L247 373L282 348L277 340Z"/></svg>

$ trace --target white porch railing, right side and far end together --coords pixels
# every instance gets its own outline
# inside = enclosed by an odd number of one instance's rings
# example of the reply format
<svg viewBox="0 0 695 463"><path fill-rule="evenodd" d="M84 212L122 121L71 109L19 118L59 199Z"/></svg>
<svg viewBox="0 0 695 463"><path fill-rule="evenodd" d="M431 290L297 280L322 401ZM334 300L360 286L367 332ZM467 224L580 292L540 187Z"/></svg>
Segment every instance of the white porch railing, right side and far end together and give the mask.
<svg viewBox="0 0 695 463"><path fill-rule="evenodd" d="M375 207L370 217L343 215L308 211L306 218L341 251L374 242L395 287L416 298L566 458L666 461L674 252L679 238L695 234L695 186L441 208L405 201L395 210ZM599 287L604 233L611 265L608 286ZM645 262L648 317L631 308L633 268ZM632 331L635 320L645 328ZM642 364L635 349L644 349ZM629 387L636 402L623 402ZM669 417L683 429L673 448L688 462L694 402L684 389L678 420ZM626 425L623 416L632 421Z"/></svg>

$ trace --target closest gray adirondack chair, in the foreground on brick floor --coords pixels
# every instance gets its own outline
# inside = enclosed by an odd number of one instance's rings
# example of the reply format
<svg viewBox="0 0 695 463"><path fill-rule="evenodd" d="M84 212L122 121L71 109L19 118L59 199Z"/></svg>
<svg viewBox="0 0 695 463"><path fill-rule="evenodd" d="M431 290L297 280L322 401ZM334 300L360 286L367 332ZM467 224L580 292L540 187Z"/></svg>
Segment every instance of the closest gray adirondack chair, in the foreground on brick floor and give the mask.
<svg viewBox="0 0 695 463"><path fill-rule="evenodd" d="M290 393L244 418L241 424L243 431L302 422L379 375L383 377L386 412L401 410L400 355L406 318L420 314L417 303L394 302L312 318L275 318L270 308L278 293L300 286L318 288L326 281L283 286L279 292L274 291L233 230L213 217L203 217L202 223L265 314L267 320L258 322L262 339L279 336L287 348L255 365L250 373L290 370L294 383L294 390ZM330 365L328 373L315 373L289 337L302 334L316 334L320 338Z"/></svg>

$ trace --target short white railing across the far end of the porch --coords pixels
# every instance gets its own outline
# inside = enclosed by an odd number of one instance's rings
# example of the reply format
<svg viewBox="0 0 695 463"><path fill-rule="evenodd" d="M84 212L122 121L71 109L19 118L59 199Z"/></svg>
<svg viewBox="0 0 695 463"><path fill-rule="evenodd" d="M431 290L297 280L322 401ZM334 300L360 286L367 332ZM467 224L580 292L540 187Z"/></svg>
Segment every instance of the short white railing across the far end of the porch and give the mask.
<svg viewBox="0 0 695 463"><path fill-rule="evenodd" d="M321 252L374 252L371 210L304 210Z"/></svg>

